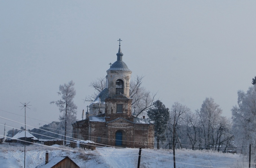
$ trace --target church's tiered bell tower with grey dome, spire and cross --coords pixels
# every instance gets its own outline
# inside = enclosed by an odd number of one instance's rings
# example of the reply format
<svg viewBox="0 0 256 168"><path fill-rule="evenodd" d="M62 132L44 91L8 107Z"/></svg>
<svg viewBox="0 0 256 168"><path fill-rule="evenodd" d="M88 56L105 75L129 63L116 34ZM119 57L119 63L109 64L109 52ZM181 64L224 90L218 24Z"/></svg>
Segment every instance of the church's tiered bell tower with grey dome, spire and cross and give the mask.
<svg viewBox="0 0 256 168"><path fill-rule="evenodd" d="M108 97L105 99L105 116L113 120L118 117L130 118L132 99L130 99L130 78L132 71L123 62L119 41L117 61L107 70Z"/></svg>

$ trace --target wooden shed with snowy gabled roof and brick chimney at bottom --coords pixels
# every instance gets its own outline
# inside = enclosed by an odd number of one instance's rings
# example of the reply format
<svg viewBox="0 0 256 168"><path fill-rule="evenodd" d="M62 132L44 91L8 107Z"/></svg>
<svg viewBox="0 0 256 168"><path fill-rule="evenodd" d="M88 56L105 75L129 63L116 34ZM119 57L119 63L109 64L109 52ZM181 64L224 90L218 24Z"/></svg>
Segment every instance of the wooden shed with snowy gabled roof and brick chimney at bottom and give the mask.
<svg viewBox="0 0 256 168"><path fill-rule="evenodd" d="M80 168L73 160L68 156L53 157L48 161L49 153L45 153L45 162L36 166L36 168Z"/></svg>

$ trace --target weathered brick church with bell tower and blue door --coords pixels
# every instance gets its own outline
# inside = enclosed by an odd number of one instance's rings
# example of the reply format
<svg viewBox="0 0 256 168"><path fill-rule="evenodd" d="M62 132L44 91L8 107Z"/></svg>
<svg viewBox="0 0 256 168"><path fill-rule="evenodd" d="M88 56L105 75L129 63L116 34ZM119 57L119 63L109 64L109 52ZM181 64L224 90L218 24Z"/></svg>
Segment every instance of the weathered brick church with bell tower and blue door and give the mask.
<svg viewBox="0 0 256 168"><path fill-rule="evenodd" d="M120 41L117 61L107 70L106 87L87 106L86 119L76 121L73 138L128 148L154 148L154 127L145 116L132 115L130 78L132 71L123 62Z"/></svg>

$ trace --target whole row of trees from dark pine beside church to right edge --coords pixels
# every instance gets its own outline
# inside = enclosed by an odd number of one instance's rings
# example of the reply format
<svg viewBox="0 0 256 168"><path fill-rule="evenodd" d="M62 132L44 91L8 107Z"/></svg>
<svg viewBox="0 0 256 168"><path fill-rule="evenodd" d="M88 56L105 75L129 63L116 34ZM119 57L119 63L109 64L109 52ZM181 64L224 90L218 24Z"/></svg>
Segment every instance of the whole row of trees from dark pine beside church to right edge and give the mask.
<svg viewBox="0 0 256 168"><path fill-rule="evenodd" d="M238 105L233 106L232 118L221 116L220 105L205 98L200 110L194 112L175 102L166 108L161 101L147 111L155 123L157 148L211 149L245 153L249 144L256 152L256 76L248 91L238 91Z"/></svg>

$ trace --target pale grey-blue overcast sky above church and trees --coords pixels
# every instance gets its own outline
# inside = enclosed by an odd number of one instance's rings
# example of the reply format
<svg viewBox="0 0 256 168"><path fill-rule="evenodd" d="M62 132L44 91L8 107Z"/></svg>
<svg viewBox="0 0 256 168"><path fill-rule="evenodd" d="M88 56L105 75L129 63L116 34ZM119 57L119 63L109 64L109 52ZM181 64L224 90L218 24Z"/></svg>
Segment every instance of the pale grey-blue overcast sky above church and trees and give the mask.
<svg viewBox="0 0 256 168"><path fill-rule="evenodd" d="M61 98L60 84L73 80L82 120L89 105L82 99L116 61L120 38L132 76L145 76L143 86L166 107L178 101L194 111L212 97L231 117L237 91L247 91L256 75L255 8L256 1L234 0L1 0L0 116L24 123L20 102L30 102L28 125L59 121L50 101Z"/></svg>

